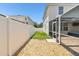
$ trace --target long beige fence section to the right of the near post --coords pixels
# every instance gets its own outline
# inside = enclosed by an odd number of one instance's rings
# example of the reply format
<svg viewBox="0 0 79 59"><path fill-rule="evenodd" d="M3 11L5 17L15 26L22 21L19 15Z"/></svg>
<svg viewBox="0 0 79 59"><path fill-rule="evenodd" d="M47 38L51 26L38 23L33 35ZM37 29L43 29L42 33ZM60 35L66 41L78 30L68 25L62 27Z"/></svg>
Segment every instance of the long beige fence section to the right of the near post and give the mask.
<svg viewBox="0 0 79 59"><path fill-rule="evenodd" d="M13 55L35 32L33 26L9 20L9 55Z"/></svg>

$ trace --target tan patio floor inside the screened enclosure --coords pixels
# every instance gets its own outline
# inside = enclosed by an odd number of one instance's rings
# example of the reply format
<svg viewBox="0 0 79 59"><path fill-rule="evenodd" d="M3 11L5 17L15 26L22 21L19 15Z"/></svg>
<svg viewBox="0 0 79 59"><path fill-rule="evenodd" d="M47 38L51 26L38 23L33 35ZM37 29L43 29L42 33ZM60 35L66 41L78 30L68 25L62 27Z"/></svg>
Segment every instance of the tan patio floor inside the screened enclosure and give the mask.
<svg viewBox="0 0 79 59"><path fill-rule="evenodd" d="M79 56L79 38L78 37L61 37L62 43L73 55Z"/></svg>

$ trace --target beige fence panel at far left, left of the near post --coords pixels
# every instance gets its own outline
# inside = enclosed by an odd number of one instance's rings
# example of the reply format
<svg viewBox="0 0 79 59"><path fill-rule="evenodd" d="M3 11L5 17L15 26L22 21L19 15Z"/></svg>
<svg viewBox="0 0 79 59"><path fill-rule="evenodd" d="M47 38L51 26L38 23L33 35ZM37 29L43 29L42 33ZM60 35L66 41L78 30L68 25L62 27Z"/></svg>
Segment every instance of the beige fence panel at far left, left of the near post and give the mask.
<svg viewBox="0 0 79 59"><path fill-rule="evenodd" d="M7 19L0 16L0 55L8 55Z"/></svg>

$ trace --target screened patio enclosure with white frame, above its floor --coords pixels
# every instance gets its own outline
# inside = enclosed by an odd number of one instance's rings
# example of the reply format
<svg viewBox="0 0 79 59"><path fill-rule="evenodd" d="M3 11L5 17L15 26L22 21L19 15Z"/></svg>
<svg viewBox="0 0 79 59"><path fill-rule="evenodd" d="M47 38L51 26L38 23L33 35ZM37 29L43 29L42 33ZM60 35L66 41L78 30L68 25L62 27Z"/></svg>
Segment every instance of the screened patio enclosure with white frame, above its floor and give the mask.
<svg viewBox="0 0 79 59"><path fill-rule="evenodd" d="M79 36L79 6L49 21L49 35L61 44L62 36Z"/></svg>

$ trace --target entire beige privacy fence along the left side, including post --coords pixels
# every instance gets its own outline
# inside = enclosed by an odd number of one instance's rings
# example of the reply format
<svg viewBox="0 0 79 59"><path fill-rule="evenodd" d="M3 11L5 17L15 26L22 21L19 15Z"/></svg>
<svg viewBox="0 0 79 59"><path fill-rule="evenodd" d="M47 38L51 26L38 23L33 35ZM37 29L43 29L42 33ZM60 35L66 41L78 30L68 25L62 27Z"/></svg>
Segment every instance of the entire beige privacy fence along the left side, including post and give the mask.
<svg viewBox="0 0 79 59"><path fill-rule="evenodd" d="M34 33L32 25L0 15L0 55L13 55Z"/></svg>

